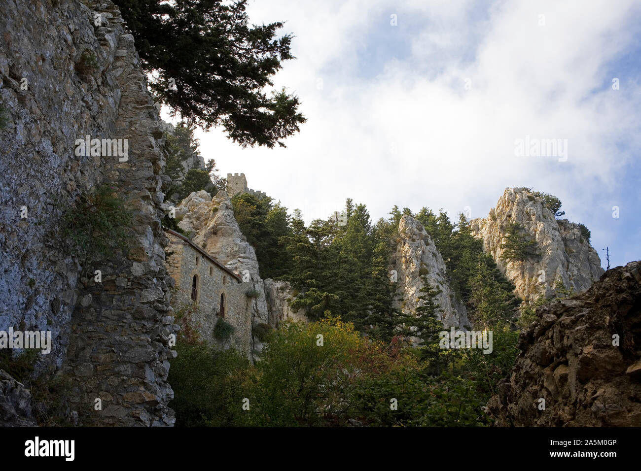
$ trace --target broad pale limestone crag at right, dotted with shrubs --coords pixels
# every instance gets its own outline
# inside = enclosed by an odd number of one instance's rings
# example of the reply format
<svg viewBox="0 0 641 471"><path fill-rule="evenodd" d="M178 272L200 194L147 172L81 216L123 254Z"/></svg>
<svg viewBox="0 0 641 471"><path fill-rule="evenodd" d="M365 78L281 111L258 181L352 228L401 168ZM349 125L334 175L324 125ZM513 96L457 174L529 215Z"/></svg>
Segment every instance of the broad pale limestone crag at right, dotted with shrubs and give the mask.
<svg viewBox="0 0 641 471"><path fill-rule="evenodd" d="M501 260L510 222L521 224L537 241L539 255L533 260ZM506 188L487 219L473 219L470 225L472 234L483 240L483 250L492 254L499 270L516 286L515 293L526 301L540 295L552 297L556 280L576 292L585 291L604 272L599 254L581 236L579 225L554 219L543 200L525 188Z"/></svg>

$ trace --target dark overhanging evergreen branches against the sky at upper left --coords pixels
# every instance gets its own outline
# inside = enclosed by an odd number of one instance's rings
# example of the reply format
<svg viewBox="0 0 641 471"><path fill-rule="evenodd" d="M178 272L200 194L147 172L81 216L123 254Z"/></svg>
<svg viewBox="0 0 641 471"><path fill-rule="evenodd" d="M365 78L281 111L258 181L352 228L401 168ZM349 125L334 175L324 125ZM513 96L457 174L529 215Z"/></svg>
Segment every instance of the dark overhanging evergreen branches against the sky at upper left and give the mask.
<svg viewBox="0 0 641 471"><path fill-rule="evenodd" d="M299 99L272 86L283 60L293 59L283 22L248 26L247 0L117 0L135 38L151 90L188 122L223 126L245 145L283 145L305 121Z"/></svg>

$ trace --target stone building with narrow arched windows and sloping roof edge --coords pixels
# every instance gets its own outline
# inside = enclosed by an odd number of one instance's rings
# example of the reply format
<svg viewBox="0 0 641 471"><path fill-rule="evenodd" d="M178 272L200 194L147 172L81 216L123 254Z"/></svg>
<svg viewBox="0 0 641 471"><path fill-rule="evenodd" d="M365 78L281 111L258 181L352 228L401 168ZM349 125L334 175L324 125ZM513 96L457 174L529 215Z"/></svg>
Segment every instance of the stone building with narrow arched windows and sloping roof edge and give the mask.
<svg viewBox="0 0 641 471"><path fill-rule="evenodd" d="M203 339L222 349L234 347L251 358L252 284L244 283L187 237L171 229L165 233L169 238L167 272L176 281L172 305L180 308L195 302L197 310L191 321ZM229 338L214 334L221 320L233 327Z"/></svg>

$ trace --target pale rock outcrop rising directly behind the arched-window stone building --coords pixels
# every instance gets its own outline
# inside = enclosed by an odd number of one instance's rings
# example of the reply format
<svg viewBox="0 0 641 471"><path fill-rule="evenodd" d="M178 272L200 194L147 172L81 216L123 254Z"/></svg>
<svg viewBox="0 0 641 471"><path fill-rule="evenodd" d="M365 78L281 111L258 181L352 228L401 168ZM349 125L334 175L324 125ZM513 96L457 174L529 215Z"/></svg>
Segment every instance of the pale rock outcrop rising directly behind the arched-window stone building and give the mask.
<svg viewBox="0 0 641 471"><path fill-rule="evenodd" d="M221 190L213 198L204 190L193 192L176 208L176 219L178 226L190 233L194 244L243 281L251 282L251 289L261 293L251 301L252 325L267 324L265 285L260 278L256 251L240 231L226 192Z"/></svg>

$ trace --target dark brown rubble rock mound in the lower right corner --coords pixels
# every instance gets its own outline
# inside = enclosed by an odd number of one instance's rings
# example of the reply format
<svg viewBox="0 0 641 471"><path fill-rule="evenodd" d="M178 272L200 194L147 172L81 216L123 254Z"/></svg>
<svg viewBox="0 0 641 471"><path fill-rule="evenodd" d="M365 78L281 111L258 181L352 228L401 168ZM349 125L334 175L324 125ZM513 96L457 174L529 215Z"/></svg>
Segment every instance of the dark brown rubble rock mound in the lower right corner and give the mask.
<svg viewBox="0 0 641 471"><path fill-rule="evenodd" d="M537 317L488 402L495 425L641 426L641 262L609 270Z"/></svg>

